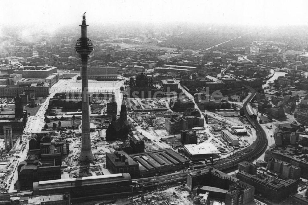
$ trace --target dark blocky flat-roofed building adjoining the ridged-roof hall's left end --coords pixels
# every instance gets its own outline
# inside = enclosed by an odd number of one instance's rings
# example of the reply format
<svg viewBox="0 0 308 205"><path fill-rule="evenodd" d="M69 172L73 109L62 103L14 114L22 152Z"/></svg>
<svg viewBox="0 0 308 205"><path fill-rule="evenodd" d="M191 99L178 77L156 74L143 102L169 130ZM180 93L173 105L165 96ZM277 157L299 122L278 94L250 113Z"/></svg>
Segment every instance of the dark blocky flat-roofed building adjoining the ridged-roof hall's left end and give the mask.
<svg viewBox="0 0 308 205"><path fill-rule="evenodd" d="M132 178L139 176L139 164L124 151L106 153L106 168L113 174L128 173Z"/></svg>

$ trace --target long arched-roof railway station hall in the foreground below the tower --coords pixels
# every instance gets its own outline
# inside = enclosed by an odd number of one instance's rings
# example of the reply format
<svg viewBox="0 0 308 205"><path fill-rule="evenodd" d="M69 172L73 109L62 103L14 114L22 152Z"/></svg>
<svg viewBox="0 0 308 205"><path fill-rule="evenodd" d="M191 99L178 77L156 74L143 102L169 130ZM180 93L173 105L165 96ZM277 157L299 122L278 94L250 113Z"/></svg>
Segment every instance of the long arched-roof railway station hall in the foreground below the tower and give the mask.
<svg viewBox="0 0 308 205"><path fill-rule="evenodd" d="M132 194L132 178L129 174L57 179L33 183L34 195L70 194L71 199L103 199Z"/></svg>

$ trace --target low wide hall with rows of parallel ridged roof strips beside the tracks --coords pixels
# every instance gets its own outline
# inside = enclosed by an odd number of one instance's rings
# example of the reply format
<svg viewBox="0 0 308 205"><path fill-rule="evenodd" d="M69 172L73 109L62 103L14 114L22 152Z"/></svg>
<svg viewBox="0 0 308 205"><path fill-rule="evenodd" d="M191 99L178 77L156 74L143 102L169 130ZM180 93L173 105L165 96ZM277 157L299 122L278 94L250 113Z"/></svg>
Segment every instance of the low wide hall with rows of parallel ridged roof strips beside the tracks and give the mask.
<svg viewBox="0 0 308 205"><path fill-rule="evenodd" d="M139 163L140 177L168 171L174 172L188 166L188 161L170 148L131 154L130 157Z"/></svg>

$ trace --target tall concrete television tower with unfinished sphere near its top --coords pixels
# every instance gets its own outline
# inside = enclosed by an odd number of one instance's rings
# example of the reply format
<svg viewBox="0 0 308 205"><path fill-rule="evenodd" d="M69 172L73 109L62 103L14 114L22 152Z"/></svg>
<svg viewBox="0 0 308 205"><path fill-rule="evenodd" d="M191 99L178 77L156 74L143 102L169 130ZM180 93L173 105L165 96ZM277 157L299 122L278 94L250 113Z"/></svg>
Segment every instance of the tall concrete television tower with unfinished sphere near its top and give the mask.
<svg viewBox="0 0 308 205"><path fill-rule="evenodd" d="M82 88L82 120L81 120L81 153L79 156L79 162L91 162L94 160L94 156L91 150L91 137L90 137L90 114L89 114L89 90L88 90L88 57L93 50L93 44L90 39L87 38L87 26L86 15L82 16L81 26L81 38L77 40L75 50L79 53L82 63L81 68L81 88Z"/></svg>

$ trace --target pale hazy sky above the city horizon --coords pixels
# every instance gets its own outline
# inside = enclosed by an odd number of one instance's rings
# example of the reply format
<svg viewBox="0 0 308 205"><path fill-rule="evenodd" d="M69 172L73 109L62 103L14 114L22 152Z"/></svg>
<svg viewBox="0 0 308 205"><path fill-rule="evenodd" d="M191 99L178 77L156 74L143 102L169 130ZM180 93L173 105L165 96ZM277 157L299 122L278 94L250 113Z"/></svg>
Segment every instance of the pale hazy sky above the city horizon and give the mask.
<svg viewBox="0 0 308 205"><path fill-rule="evenodd" d="M1 24L201 22L308 25L308 0L2 0Z"/></svg>

